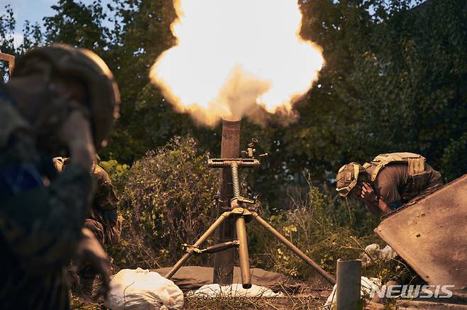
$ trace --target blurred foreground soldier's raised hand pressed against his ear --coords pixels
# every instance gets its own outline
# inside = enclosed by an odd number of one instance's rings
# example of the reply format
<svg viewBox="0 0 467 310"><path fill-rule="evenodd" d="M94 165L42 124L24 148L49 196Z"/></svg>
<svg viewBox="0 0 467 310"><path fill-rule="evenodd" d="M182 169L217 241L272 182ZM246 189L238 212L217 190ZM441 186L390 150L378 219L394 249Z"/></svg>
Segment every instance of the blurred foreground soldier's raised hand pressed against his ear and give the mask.
<svg viewBox="0 0 467 310"><path fill-rule="evenodd" d="M70 162L91 170L96 155L91 125L81 109L74 109L60 128L59 138L70 149Z"/></svg>

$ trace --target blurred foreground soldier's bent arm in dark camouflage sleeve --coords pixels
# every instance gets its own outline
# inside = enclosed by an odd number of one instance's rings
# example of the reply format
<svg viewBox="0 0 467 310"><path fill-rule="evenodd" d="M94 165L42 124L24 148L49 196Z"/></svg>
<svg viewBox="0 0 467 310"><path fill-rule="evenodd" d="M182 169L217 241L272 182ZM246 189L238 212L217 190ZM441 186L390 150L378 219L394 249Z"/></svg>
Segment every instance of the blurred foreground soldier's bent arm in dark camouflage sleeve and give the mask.
<svg viewBox="0 0 467 310"><path fill-rule="evenodd" d="M17 187L1 204L0 238L29 272L61 266L74 254L91 193L89 172L74 164L48 187Z"/></svg>

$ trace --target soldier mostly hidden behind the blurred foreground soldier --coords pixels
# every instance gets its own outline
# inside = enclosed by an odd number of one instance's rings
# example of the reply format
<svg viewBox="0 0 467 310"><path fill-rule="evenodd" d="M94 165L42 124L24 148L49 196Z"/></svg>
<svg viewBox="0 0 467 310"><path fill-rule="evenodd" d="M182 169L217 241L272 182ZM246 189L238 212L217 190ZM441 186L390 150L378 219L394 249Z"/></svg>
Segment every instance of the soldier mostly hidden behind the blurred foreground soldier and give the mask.
<svg viewBox="0 0 467 310"><path fill-rule="evenodd" d="M69 160L69 158L55 157L53 165L57 171L66 170ZM120 240L123 219L116 213L119 199L115 194L109 175L96 162L92 165L91 175L97 182L97 191L92 199L89 214L84 220L84 227L92 231L101 245L117 245ZM79 275L79 288L84 297L91 296L97 270L89 262L82 262L77 274Z"/></svg>

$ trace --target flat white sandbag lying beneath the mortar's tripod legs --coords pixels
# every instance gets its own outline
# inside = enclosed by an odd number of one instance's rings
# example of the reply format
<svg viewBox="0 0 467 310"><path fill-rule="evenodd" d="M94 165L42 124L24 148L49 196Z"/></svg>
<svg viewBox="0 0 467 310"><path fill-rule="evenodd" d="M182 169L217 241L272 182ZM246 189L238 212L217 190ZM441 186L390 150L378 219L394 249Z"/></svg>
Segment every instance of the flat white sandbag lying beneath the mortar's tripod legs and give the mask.
<svg viewBox="0 0 467 310"><path fill-rule="evenodd" d="M206 284L195 291L187 293L187 297L282 297L282 292L275 293L268 287L251 285L249 289L243 289L241 284L219 285Z"/></svg>

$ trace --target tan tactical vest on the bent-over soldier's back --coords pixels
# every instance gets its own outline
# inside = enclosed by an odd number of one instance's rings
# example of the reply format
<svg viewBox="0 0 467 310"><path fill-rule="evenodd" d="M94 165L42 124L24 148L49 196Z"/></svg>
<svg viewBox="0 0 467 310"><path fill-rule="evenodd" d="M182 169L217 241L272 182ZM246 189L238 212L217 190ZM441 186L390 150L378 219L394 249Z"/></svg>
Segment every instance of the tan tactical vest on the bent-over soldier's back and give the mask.
<svg viewBox="0 0 467 310"><path fill-rule="evenodd" d="M371 181L375 181L378 177L378 173L386 166L395 162L407 162L408 164L408 175L417 175L424 172L425 170L425 157L415 153L400 152L400 153L386 153L376 156L370 164L368 162L363 165L365 169L370 166L375 166L373 172L371 172ZM367 167L366 167L367 165Z"/></svg>

